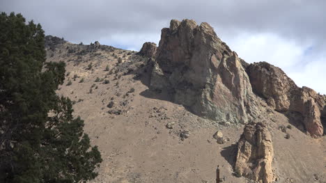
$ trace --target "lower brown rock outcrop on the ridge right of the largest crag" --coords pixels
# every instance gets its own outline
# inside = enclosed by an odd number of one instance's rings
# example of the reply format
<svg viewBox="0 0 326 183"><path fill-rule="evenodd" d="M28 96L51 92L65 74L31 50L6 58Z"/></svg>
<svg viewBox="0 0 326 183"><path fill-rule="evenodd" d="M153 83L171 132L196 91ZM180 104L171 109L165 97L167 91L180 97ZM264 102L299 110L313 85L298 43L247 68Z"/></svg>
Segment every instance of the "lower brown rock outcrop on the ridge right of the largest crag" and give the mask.
<svg viewBox="0 0 326 183"><path fill-rule="evenodd" d="M279 67L269 63L251 64L247 72L254 92L265 98L267 104L279 112L300 113L306 132L315 138L323 136L325 97L310 88L297 87Z"/></svg>

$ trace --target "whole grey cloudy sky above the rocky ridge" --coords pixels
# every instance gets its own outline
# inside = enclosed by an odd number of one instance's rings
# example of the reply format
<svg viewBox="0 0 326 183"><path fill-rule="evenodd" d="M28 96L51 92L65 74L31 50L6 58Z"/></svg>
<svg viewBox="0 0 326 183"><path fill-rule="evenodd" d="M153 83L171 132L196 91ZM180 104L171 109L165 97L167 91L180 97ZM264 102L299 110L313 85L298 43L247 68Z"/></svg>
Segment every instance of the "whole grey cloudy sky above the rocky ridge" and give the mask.
<svg viewBox="0 0 326 183"><path fill-rule="evenodd" d="M249 63L281 67L298 86L326 94L324 0L1 0L0 11L22 13L46 34L70 42L139 50L160 41L171 19L208 22Z"/></svg>

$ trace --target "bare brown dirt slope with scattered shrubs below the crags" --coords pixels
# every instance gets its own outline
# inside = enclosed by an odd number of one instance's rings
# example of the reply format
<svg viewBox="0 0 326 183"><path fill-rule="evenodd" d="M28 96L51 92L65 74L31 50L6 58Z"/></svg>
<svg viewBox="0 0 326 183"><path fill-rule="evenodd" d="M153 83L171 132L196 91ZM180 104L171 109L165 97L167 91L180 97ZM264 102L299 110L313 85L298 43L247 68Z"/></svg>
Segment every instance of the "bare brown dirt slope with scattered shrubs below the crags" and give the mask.
<svg viewBox="0 0 326 183"><path fill-rule="evenodd" d="M93 182L216 182L217 165L224 182L251 182L233 175L243 125L201 118L148 90L147 58L104 45L50 43L47 61L67 64L58 93L74 101L75 116L85 120L85 132L102 153ZM267 121L272 133L277 182L325 183L325 136L306 136L260 102L266 107L259 120ZM169 122L173 129L166 127ZM289 139L280 125L292 127L286 128ZM218 130L228 140L224 144L213 138Z"/></svg>

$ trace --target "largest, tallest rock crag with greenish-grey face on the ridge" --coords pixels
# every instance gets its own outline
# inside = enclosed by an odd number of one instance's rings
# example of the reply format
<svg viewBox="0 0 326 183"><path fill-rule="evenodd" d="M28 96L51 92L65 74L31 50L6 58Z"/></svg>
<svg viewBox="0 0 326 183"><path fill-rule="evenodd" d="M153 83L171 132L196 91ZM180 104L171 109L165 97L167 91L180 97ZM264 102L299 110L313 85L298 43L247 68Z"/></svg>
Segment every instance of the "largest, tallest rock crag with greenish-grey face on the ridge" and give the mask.
<svg viewBox="0 0 326 183"><path fill-rule="evenodd" d="M259 110L244 65L209 24L173 19L162 29L150 88L200 116L247 122Z"/></svg>

